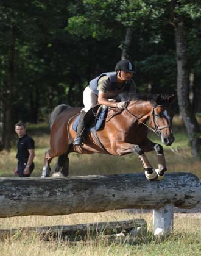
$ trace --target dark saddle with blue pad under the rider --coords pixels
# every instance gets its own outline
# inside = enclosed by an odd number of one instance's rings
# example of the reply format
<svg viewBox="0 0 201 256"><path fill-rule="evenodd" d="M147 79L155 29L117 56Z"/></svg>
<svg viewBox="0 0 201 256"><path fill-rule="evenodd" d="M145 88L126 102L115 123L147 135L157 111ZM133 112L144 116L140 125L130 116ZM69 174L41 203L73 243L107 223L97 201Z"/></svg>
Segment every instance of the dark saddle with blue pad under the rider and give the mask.
<svg viewBox="0 0 201 256"><path fill-rule="evenodd" d="M86 130L88 132L100 130L107 116L108 108L103 105L95 105L85 114ZM75 119L72 129L77 132L80 115Z"/></svg>

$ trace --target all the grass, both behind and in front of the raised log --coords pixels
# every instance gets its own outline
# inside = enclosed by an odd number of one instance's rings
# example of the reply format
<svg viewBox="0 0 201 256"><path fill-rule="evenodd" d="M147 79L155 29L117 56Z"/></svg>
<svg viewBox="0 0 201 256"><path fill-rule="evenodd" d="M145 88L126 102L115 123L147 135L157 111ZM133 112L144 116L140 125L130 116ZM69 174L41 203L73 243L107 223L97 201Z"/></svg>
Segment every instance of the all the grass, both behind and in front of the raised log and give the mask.
<svg viewBox="0 0 201 256"><path fill-rule="evenodd" d="M36 143L35 171L32 177L40 177L43 168L44 150L49 146L49 129L47 124L30 125L29 134ZM179 118L174 123L175 142L171 147L164 147L168 172L186 171L196 174L201 179L200 160L191 157L188 137ZM159 138L149 134L153 141L160 142ZM16 167L16 137L10 153L1 152L0 176L14 177L13 169ZM150 162L157 167L155 152L147 154ZM116 174L129 172L142 172L143 168L134 154L124 157L110 155L79 155L70 154L70 176L87 174ZM55 160L53 160L52 166ZM103 165L104 163L104 165ZM136 244L131 244L127 237L115 242L101 237L90 238L77 243L66 240L43 241L35 233L20 232L10 238L0 240L1 255L5 256L64 256L64 255L135 255L135 256L198 256L201 255L201 218L197 215L177 215L174 218L174 234L158 241L153 236L152 214L138 213L135 210L114 210L103 213L79 213L64 216L22 216L0 219L0 229L11 229L31 226L52 226L81 224L88 222L116 221L122 219L143 218L148 224L147 236Z"/></svg>

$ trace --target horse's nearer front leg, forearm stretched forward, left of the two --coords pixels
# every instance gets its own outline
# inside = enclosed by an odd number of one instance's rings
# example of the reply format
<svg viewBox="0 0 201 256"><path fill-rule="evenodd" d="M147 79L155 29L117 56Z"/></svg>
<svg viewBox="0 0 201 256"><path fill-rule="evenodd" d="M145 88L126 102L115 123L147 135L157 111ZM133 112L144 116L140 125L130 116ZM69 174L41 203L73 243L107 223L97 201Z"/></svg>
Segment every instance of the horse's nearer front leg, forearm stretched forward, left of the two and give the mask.
<svg viewBox="0 0 201 256"><path fill-rule="evenodd" d="M118 143L116 152L118 155L125 155L128 153L134 152L136 155L138 155L139 160L143 164L144 174L147 180L150 180L150 181L157 180L158 178L157 172L155 172L155 169L153 169L152 165L150 164L149 160L144 154L144 149L141 148L139 145L124 143L124 142Z"/></svg>

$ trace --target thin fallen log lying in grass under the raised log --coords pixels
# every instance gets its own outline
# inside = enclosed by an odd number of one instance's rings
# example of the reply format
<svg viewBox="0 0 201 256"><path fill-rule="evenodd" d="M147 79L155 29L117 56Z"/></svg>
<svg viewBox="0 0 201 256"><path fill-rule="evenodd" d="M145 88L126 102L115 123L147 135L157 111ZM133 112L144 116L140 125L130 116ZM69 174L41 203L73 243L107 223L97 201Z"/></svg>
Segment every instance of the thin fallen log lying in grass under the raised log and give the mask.
<svg viewBox="0 0 201 256"><path fill-rule="evenodd" d="M97 222L77 225L59 225L59 226L44 226L44 227L19 227L18 229L0 229L0 236L7 237L16 235L16 233L35 232L41 238L48 240L49 238L65 238L72 237L73 240L79 236L93 236L93 235L111 235L118 233L135 232L136 235L141 235L143 227L147 229L147 222L144 219L129 219L125 221L112 222Z"/></svg>

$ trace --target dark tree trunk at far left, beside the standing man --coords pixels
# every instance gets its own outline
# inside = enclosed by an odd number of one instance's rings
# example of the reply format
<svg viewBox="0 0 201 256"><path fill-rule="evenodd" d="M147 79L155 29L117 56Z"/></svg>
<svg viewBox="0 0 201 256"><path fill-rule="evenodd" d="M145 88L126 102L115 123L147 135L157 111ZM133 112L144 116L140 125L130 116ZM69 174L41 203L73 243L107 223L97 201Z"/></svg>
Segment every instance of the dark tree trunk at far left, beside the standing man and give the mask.
<svg viewBox="0 0 201 256"><path fill-rule="evenodd" d="M12 93L14 83L14 60L15 60L15 37L14 28L10 26L10 47L9 47L9 69L7 79L7 90L4 100L4 149L10 151L10 141L12 132Z"/></svg>

